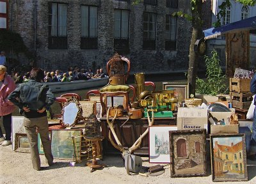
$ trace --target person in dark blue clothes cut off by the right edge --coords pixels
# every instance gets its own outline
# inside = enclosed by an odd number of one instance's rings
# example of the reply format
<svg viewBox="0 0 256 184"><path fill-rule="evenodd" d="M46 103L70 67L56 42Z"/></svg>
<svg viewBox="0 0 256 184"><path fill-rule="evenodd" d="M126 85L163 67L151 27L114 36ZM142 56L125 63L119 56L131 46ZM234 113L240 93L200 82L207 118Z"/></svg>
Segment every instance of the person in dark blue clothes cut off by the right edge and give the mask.
<svg viewBox="0 0 256 184"><path fill-rule="evenodd" d="M253 79L251 81L250 91L256 94L256 74L253 76ZM256 105L256 98L254 98L254 105ZM248 156L248 158L256 160L256 108L253 112L252 136L250 143L250 155Z"/></svg>

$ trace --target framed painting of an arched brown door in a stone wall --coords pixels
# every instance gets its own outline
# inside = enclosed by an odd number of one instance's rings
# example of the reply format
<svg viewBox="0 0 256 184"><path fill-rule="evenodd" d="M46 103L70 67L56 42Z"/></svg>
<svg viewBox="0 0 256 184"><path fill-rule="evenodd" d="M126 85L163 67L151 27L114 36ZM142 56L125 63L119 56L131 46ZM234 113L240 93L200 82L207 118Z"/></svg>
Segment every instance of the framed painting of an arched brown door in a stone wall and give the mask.
<svg viewBox="0 0 256 184"><path fill-rule="evenodd" d="M171 177L205 176L205 129L169 132Z"/></svg>

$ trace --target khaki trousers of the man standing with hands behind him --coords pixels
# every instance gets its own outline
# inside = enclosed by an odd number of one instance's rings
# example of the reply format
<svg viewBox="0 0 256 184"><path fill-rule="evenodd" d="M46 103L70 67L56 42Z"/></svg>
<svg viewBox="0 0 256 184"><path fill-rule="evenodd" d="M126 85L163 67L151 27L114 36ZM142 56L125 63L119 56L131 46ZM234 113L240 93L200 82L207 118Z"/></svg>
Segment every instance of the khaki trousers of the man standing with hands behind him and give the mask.
<svg viewBox="0 0 256 184"><path fill-rule="evenodd" d="M26 128L30 150L31 150L31 160L33 168L40 170L40 157L38 152L38 137L36 134L36 128L40 133L40 138L44 148L44 155L47 159L49 165L52 165L53 157L51 150L51 141L49 139L48 121L47 116L40 118L24 118L24 127Z"/></svg>

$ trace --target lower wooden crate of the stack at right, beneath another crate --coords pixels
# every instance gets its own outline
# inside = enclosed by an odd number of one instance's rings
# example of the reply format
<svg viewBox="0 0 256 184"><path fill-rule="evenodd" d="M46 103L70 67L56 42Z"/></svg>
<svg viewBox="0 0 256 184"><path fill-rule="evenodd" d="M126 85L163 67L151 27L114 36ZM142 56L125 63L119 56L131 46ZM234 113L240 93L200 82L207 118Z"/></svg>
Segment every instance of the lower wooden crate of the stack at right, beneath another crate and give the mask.
<svg viewBox="0 0 256 184"><path fill-rule="evenodd" d="M230 103L237 109L249 109L252 103L253 93L230 92Z"/></svg>

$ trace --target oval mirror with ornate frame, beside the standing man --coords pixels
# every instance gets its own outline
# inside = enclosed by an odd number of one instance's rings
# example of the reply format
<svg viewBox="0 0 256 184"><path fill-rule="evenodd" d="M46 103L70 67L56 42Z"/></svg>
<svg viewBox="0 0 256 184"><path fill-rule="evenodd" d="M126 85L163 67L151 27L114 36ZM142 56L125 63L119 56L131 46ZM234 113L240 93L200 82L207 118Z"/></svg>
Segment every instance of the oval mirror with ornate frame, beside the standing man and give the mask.
<svg viewBox="0 0 256 184"><path fill-rule="evenodd" d="M76 123L79 114L79 107L76 100L72 100L63 107L63 123L68 127Z"/></svg>

